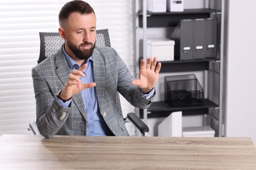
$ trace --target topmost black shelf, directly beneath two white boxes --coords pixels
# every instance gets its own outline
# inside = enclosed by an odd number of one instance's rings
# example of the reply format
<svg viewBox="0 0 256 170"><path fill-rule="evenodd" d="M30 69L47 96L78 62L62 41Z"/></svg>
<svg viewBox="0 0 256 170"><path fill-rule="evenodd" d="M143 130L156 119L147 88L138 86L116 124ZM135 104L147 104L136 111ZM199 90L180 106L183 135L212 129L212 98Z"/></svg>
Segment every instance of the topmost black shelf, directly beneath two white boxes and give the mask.
<svg viewBox="0 0 256 170"><path fill-rule="evenodd" d="M180 20L209 18L211 13L221 12L214 9L184 9L183 12L149 12L147 11L147 27L175 27ZM142 11L138 12L139 27L143 27Z"/></svg>

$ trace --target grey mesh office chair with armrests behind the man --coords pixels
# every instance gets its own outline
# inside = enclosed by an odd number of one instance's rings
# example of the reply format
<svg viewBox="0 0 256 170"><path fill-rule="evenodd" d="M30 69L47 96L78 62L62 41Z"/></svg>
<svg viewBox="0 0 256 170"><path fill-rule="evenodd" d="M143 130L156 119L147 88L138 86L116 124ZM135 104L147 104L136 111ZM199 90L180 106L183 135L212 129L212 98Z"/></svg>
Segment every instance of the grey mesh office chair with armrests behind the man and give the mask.
<svg viewBox="0 0 256 170"><path fill-rule="evenodd" d="M52 56L57 52L57 50L62 46L64 40L58 33L39 33L40 36L40 54L37 63L40 63L45 58ZM108 34L108 29L96 30L96 46L108 46L110 47L110 37ZM117 93L117 106L121 110L121 105L119 101L119 93ZM148 136L149 128L140 120L140 118L133 112L127 114L129 119L140 131L142 136ZM31 122L28 130L32 130L35 135L39 135L39 130L35 122Z"/></svg>

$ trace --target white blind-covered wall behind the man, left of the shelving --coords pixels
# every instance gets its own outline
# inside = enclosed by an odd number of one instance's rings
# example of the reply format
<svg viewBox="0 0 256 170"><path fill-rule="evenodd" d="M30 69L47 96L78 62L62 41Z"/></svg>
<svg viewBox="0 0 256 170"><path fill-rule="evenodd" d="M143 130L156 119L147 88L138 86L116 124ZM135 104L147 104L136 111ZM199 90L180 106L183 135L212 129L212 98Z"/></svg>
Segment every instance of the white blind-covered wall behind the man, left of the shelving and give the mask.
<svg viewBox="0 0 256 170"><path fill-rule="evenodd" d="M39 57L39 32L58 31L58 12L66 2L0 1L0 135L31 133L27 131L29 122L35 121L31 70ZM95 9L97 29L109 29L112 46L133 73L134 1L87 2ZM123 98L121 103L124 113L135 111Z"/></svg>

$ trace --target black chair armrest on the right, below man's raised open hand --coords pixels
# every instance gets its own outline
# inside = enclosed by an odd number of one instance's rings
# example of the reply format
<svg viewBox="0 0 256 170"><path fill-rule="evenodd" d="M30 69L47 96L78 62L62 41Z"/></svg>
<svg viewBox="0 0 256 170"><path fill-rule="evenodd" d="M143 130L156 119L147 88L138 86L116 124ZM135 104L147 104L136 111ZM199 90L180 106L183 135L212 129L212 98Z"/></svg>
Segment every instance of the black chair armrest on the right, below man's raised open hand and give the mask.
<svg viewBox="0 0 256 170"><path fill-rule="evenodd" d="M129 112L127 118L139 129L142 136L148 136L148 126L134 112Z"/></svg>

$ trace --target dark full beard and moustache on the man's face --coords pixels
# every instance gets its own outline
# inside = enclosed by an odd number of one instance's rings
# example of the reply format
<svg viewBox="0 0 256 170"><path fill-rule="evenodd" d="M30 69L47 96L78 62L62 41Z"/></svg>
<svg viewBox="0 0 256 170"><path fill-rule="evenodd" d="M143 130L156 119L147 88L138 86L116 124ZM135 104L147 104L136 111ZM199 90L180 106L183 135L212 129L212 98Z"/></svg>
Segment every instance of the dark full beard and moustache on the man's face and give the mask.
<svg viewBox="0 0 256 170"><path fill-rule="evenodd" d="M70 48L70 50L72 50L72 52L75 54L75 56L79 59L85 59L85 62L87 61L87 59L89 59L93 55L93 50L95 49L95 44L93 44L91 42L83 42L77 48L74 44L72 44L72 42L67 41L68 47ZM89 50L82 51L79 49L79 47L83 46L83 45L91 45L92 47Z"/></svg>

